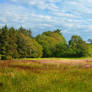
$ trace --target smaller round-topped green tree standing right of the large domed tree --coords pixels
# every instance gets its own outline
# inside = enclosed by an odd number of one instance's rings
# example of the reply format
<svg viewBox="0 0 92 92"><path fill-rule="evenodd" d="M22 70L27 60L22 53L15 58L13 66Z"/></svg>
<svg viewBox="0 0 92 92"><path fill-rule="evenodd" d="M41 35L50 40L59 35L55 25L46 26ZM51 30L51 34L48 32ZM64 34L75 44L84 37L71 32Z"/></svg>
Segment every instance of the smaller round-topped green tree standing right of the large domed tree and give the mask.
<svg viewBox="0 0 92 92"><path fill-rule="evenodd" d="M69 41L70 54L74 57L81 57L87 55L87 44L80 36L73 35Z"/></svg>

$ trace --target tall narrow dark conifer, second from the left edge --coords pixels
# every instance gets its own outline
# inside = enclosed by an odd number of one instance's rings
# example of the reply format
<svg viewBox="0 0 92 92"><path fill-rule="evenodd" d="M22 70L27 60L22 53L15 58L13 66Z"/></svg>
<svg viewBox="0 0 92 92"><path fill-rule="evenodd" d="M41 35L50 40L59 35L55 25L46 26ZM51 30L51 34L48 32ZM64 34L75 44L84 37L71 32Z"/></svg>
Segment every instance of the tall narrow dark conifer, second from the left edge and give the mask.
<svg viewBox="0 0 92 92"><path fill-rule="evenodd" d="M11 27L9 29L9 45L7 47L7 53L9 56L11 56L12 58L17 58L18 57L18 51L17 51L17 32L16 30Z"/></svg>

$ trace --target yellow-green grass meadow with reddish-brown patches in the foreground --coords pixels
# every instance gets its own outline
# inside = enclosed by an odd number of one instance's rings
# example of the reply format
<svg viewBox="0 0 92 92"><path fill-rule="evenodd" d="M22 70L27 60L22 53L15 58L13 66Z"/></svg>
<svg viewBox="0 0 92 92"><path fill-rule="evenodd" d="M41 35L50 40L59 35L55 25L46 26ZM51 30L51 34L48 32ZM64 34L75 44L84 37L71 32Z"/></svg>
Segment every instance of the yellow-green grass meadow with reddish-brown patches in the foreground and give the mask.
<svg viewBox="0 0 92 92"><path fill-rule="evenodd" d="M92 92L91 66L0 61L0 92Z"/></svg>

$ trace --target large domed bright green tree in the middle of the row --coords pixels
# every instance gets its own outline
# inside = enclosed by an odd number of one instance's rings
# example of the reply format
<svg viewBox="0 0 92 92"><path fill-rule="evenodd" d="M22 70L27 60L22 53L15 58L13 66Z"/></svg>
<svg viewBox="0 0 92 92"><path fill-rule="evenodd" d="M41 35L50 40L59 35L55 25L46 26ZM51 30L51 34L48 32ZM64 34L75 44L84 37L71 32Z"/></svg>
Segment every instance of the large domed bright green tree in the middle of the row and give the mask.
<svg viewBox="0 0 92 92"><path fill-rule="evenodd" d="M54 31L43 32L41 35L36 37L38 43L43 47L43 56L44 57L55 57L57 56L57 44L61 43L62 45L66 44L66 40L62 34ZM60 52L63 53L63 52Z"/></svg>

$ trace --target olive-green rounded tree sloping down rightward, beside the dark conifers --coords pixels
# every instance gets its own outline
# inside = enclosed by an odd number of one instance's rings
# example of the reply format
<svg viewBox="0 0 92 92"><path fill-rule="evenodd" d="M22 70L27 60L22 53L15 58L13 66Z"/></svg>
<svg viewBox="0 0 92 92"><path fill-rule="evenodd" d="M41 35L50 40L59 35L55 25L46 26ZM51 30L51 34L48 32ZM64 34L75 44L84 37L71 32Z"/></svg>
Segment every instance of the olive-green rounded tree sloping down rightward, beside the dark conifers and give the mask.
<svg viewBox="0 0 92 92"><path fill-rule="evenodd" d="M23 33L18 33L18 52L20 58L41 57L42 47L33 38Z"/></svg>

